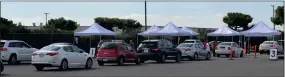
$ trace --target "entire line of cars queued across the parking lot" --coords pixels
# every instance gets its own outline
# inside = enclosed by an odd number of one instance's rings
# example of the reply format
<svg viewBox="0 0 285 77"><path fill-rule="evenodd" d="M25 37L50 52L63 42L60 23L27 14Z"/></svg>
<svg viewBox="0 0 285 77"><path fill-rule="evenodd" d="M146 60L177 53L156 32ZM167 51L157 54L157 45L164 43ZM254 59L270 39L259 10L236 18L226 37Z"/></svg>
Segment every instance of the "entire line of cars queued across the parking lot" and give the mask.
<svg viewBox="0 0 285 77"><path fill-rule="evenodd" d="M268 44L268 45L267 45ZM265 41L260 47L279 47L274 41ZM84 50L71 43L53 43L41 49L36 49L27 43L19 40L1 40L1 66L3 71L4 62L18 64L21 61L31 61L31 64L39 71L45 67L58 67L66 70L70 67L91 68L93 66L92 57ZM185 40L178 46L174 46L170 41L164 39L144 40L135 49L124 41L105 41L98 46L96 60L98 65L106 63L135 63L137 65L148 60L164 63L166 60L180 62L183 59L198 60L211 59L212 51L207 50L200 40ZM269 47L270 48L270 47ZM233 57L243 57L243 49L235 42L221 42L215 48L217 57L220 55L230 56L230 49ZM260 48L260 50L265 48ZM281 54L283 49L278 49ZM283 51L283 52L282 52Z"/></svg>

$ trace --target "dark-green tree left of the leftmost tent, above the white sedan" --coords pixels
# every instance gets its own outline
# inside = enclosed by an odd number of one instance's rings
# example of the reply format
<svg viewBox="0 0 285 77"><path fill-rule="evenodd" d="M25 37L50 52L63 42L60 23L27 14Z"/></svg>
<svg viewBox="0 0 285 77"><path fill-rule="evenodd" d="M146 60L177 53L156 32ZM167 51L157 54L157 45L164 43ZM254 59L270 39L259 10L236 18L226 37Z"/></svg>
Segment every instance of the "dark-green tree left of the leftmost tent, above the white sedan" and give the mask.
<svg viewBox="0 0 285 77"><path fill-rule="evenodd" d="M73 20L66 20L63 17L57 19L50 19L48 20L48 24L44 27L46 29L52 30L67 30L67 31L74 31L77 29L79 24Z"/></svg>

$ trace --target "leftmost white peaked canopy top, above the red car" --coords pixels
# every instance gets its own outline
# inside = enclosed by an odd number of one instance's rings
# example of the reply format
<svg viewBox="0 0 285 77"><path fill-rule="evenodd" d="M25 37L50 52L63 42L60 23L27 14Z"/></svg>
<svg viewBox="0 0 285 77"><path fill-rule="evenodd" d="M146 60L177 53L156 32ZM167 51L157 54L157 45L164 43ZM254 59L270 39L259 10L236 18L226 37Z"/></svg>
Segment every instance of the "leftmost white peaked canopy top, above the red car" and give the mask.
<svg viewBox="0 0 285 77"><path fill-rule="evenodd" d="M75 36L92 36L92 35L116 35L115 32L105 29L97 23L94 23L89 28L74 33Z"/></svg>

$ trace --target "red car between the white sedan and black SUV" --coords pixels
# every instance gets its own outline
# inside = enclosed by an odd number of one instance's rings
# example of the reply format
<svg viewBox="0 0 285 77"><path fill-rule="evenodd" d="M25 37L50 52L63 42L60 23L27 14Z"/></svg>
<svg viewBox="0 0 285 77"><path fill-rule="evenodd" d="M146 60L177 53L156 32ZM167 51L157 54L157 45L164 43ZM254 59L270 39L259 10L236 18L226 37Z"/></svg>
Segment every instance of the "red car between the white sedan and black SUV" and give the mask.
<svg viewBox="0 0 285 77"><path fill-rule="evenodd" d="M98 50L97 63L103 66L105 63L136 63L140 65L140 57L129 44L123 42L105 42Z"/></svg>

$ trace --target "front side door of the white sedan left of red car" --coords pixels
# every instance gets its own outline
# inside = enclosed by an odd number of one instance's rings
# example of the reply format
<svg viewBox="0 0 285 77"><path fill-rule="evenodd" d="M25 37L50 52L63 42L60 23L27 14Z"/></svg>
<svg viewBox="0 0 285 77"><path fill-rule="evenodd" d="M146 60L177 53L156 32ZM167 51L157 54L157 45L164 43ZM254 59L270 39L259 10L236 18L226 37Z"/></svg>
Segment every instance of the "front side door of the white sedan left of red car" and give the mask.
<svg viewBox="0 0 285 77"><path fill-rule="evenodd" d="M75 62L80 64L80 65L85 64L85 61L86 61L85 60L85 56L86 56L86 54L83 54L83 51L80 50L76 46L71 46L71 47L72 47L72 49L73 49L73 51L75 53L75 56L77 57Z"/></svg>

